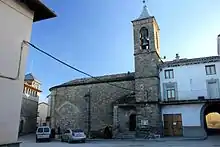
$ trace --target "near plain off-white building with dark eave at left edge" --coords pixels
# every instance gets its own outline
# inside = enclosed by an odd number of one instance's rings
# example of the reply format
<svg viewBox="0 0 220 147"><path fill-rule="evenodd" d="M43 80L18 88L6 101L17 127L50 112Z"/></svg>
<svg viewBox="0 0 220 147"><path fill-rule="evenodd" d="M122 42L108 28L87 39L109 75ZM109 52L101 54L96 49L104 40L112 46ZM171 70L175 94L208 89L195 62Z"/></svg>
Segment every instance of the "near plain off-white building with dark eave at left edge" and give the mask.
<svg viewBox="0 0 220 147"><path fill-rule="evenodd" d="M0 145L17 143L32 23L55 17L39 0L0 1ZM10 57L10 58L9 58Z"/></svg>

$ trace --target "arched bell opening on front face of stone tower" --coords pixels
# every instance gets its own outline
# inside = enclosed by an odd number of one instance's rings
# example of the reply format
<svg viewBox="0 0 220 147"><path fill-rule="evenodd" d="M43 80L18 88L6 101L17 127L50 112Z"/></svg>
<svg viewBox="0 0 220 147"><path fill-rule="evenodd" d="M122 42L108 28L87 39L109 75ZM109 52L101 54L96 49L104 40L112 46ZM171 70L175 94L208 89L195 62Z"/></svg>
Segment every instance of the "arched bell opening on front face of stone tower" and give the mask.
<svg viewBox="0 0 220 147"><path fill-rule="evenodd" d="M143 27L140 30L141 49L149 49L148 29Z"/></svg>

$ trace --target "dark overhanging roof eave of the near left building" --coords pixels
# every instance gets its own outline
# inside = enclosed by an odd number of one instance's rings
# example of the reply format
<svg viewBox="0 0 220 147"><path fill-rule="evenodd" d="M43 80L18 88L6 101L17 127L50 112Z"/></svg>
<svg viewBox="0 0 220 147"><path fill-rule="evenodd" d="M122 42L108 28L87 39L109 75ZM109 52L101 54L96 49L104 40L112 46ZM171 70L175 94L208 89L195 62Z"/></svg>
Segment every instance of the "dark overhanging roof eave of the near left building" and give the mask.
<svg viewBox="0 0 220 147"><path fill-rule="evenodd" d="M34 22L54 18L57 15L44 5L40 0L17 0L28 6L34 11Z"/></svg>

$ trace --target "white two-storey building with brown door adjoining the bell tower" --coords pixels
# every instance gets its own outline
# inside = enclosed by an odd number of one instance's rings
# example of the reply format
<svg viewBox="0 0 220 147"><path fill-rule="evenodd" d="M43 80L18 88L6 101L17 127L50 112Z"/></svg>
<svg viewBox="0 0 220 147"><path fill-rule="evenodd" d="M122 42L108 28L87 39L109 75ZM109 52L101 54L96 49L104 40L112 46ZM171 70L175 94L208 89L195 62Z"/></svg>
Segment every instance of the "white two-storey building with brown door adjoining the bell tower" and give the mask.
<svg viewBox="0 0 220 147"><path fill-rule="evenodd" d="M206 115L220 112L220 56L164 62L160 69L164 135L206 137Z"/></svg>

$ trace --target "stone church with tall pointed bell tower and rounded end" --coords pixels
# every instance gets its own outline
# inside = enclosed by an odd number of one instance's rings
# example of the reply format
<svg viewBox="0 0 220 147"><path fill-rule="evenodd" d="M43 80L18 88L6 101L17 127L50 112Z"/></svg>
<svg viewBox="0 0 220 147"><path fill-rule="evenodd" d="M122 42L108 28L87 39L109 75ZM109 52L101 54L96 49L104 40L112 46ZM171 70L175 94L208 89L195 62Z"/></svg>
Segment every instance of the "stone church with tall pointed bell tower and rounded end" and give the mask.
<svg viewBox="0 0 220 147"><path fill-rule="evenodd" d="M50 88L52 128L82 128L91 136L106 126L112 127L113 137L162 134L160 29L146 5L132 24L135 71Z"/></svg>

